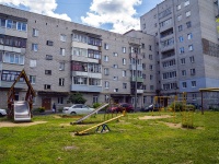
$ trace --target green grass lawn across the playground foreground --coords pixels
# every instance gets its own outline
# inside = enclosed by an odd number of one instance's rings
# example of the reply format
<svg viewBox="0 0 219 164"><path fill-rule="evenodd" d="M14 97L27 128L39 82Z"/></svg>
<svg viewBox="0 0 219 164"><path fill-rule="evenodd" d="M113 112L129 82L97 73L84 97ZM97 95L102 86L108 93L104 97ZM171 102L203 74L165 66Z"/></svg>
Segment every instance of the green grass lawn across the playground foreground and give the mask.
<svg viewBox="0 0 219 164"><path fill-rule="evenodd" d="M74 136L73 132L104 121L103 114L73 126L69 122L77 118L36 116L34 122L47 122L0 128L0 163L219 164L218 112L206 112L204 115L195 113L194 129L174 128L164 124L181 122L180 113L175 120L139 119L147 115L152 114L128 114L119 121L107 124L110 132L95 133L93 129L87 136ZM0 118L0 124L5 120Z"/></svg>

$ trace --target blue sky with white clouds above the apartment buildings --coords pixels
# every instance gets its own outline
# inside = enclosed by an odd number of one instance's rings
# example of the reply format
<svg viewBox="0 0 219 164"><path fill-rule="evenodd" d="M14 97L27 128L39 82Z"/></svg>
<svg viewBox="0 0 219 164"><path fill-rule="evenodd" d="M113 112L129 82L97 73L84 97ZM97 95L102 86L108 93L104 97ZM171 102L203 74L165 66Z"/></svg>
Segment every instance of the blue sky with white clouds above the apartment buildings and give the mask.
<svg viewBox="0 0 219 164"><path fill-rule="evenodd" d="M0 0L0 4L124 34L162 0Z"/></svg>

